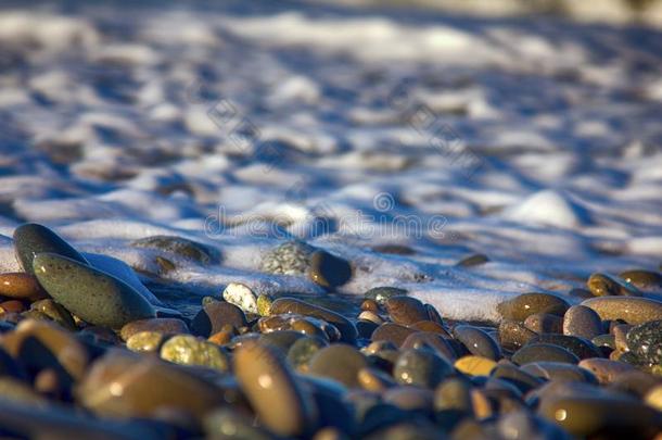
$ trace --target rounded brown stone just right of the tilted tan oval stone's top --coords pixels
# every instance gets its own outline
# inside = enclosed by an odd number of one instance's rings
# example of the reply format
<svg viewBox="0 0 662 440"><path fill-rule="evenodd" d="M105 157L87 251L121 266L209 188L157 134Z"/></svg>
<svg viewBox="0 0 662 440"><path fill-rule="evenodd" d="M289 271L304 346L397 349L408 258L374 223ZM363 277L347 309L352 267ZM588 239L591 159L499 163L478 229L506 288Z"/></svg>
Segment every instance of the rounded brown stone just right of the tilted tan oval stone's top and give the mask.
<svg viewBox="0 0 662 440"><path fill-rule="evenodd" d="M308 373L354 388L359 387L358 372L366 367L368 360L361 352L344 343L334 343L315 354L310 360Z"/></svg>

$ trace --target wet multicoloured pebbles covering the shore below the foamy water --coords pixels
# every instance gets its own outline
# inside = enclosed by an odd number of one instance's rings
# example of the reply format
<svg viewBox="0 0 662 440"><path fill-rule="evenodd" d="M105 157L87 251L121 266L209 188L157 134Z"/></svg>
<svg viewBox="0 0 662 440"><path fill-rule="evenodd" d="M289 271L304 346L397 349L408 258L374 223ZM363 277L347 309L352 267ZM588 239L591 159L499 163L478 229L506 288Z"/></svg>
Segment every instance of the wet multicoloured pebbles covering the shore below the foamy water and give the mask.
<svg viewBox="0 0 662 440"><path fill-rule="evenodd" d="M239 282L189 319L41 225L16 228L14 246L24 272L0 275L3 437L662 439L658 273L595 274L574 305L520 294L498 326L443 319L395 287L359 305ZM329 289L352 276L295 241L263 269Z"/></svg>

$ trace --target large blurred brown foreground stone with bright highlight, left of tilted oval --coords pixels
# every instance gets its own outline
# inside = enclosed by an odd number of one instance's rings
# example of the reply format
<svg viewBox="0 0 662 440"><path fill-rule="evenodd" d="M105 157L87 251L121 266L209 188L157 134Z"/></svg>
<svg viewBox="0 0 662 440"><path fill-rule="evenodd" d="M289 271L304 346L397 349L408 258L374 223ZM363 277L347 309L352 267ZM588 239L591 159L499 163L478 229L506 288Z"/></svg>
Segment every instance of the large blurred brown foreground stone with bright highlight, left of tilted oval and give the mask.
<svg viewBox="0 0 662 440"><path fill-rule="evenodd" d="M76 397L102 417L152 417L164 407L202 417L225 400L214 384L192 372L120 350L92 364Z"/></svg>

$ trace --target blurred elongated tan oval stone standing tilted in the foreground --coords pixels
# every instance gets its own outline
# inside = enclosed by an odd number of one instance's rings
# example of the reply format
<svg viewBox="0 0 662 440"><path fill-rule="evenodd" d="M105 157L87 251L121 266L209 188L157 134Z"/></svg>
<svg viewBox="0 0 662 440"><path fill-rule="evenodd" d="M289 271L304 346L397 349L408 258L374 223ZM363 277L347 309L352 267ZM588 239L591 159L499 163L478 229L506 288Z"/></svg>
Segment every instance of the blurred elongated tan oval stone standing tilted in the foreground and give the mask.
<svg viewBox="0 0 662 440"><path fill-rule="evenodd" d="M302 436L313 429L317 414L311 397L271 349L258 343L239 348L232 369L266 428L285 437Z"/></svg>

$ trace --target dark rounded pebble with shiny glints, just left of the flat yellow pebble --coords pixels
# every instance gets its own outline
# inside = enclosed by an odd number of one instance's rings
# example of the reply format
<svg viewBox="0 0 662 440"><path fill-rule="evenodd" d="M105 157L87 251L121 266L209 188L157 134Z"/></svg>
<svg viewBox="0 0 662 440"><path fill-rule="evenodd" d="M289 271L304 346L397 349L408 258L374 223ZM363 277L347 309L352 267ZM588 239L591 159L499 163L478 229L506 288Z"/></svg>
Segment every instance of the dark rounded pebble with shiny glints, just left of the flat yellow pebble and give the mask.
<svg viewBox="0 0 662 440"><path fill-rule="evenodd" d="M423 388L436 387L453 372L451 364L428 350L405 350L393 366L396 382Z"/></svg>

